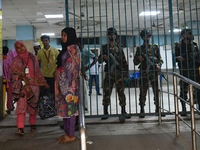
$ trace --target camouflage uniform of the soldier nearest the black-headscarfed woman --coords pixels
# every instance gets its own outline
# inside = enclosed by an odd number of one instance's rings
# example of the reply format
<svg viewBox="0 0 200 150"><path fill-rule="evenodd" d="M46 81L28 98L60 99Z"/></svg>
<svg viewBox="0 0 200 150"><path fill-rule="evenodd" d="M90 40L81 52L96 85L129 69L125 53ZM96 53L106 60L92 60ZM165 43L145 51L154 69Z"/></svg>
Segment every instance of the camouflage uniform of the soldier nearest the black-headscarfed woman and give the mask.
<svg viewBox="0 0 200 150"><path fill-rule="evenodd" d="M115 57L116 61L119 63L117 66L116 62L112 60L111 57L108 60L103 59L103 55L109 56L110 53ZM124 77L128 76L128 64L123 52L123 49L115 43L114 46L110 44L105 44L102 46L102 51L99 56L99 63L105 62L105 78L104 78L104 88L103 88L103 105L110 105L110 96L112 93L113 85L115 83L116 90L119 96L119 105L126 105L126 97L124 94Z"/></svg>

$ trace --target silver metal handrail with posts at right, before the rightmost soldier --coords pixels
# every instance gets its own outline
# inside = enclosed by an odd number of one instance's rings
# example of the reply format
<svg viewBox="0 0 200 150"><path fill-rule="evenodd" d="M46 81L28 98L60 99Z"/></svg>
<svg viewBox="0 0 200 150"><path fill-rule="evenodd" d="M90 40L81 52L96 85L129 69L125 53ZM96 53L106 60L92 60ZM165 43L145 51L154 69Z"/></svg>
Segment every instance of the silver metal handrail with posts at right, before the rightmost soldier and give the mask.
<svg viewBox="0 0 200 150"><path fill-rule="evenodd" d="M196 141L196 127L195 127L195 117L194 117L194 101L193 101L193 87L200 89L200 84L188 79L175 72L160 72L161 75L173 75L173 85L174 85L174 103L175 103L175 122L176 122L176 135L180 134L179 127L179 115L178 115L178 94L177 94L177 78L189 84L189 97L190 97L190 115L191 115L191 134L192 134L192 150L197 150L197 141ZM187 103L188 104L188 103ZM159 104L160 108L160 104ZM159 114L160 118L160 114ZM185 123L185 122L184 122Z"/></svg>

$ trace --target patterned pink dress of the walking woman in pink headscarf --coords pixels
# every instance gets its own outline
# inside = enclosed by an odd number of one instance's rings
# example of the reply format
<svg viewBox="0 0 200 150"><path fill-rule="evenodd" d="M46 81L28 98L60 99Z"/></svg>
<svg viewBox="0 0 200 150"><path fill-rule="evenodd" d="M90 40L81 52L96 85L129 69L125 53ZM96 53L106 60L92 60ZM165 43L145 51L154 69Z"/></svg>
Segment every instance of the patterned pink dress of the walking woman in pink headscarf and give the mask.
<svg viewBox="0 0 200 150"><path fill-rule="evenodd" d="M29 78L30 84L23 85L19 75L25 76L25 67L22 59L16 56L11 65L11 79L13 82L13 95L17 101L16 114L30 113L37 114L37 103L39 97L39 86L44 86L46 80L40 72L39 63L35 55L28 53L28 64L33 65L33 76ZM20 93L24 93L24 97L20 97Z"/></svg>

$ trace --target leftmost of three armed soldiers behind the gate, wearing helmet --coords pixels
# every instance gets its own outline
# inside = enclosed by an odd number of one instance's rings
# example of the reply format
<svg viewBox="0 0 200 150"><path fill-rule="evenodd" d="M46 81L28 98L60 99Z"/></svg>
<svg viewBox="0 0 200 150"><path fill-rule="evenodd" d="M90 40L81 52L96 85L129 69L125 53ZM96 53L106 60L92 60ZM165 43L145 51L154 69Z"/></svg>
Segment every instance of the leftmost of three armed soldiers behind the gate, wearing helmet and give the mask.
<svg viewBox="0 0 200 150"><path fill-rule="evenodd" d="M119 105L121 106L121 119L120 122L125 122L125 118L130 118L125 111L126 96L124 94L124 79L129 76L128 64L123 52L122 47L116 43L117 30L109 28L107 30L109 42L102 45L101 54L99 55L99 63L105 62L105 78L103 87L103 106L104 115L102 119L108 118L108 106L110 105L110 96L112 93L113 85L115 83L116 90L119 96Z"/></svg>

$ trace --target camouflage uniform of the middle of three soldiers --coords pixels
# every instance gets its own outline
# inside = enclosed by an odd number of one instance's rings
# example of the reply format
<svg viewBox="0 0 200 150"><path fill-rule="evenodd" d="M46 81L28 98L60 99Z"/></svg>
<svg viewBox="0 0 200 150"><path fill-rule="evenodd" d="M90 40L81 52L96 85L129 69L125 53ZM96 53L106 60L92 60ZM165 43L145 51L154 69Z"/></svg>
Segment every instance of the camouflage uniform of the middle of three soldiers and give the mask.
<svg viewBox="0 0 200 150"><path fill-rule="evenodd" d="M145 59L146 55L154 66L150 65L147 59ZM144 61L140 61L138 56L142 56ZM160 56L159 48L156 44L153 46L149 44L148 48L146 48L145 44L140 47L137 47L136 53L134 55L133 62L135 65L139 65L140 69L140 95L139 95L139 105L141 107L145 106L146 102L146 94L149 87L149 81L151 82L151 86L154 93L154 104L156 105L156 112L158 111L158 71L156 69L156 65L161 66L163 64L163 60Z"/></svg>

